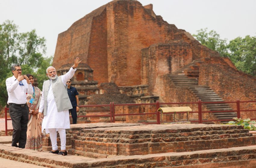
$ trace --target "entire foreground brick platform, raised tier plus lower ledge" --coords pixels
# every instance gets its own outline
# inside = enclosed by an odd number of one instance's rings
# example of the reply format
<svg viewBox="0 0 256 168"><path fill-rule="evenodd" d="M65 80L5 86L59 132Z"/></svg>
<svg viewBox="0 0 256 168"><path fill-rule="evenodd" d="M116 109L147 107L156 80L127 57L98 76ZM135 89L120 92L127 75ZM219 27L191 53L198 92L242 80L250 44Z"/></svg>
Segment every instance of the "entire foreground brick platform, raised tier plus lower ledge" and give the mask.
<svg viewBox="0 0 256 168"><path fill-rule="evenodd" d="M242 126L76 124L67 130L67 139L68 155L61 156L11 147L11 137L0 137L0 157L52 168L248 168L256 164L255 137Z"/></svg>

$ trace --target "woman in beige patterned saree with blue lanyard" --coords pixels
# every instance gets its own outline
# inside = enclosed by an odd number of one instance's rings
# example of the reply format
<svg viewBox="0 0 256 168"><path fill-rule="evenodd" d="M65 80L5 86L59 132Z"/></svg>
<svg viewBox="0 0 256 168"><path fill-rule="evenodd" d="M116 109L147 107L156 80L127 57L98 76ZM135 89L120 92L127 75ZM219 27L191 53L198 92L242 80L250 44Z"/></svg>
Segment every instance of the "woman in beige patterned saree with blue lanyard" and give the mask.
<svg viewBox="0 0 256 168"><path fill-rule="evenodd" d="M34 77L31 74L27 74L27 77L33 85ZM42 91L35 86L33 86L33 90L33 95L27 94L29 122L27 124L27 143L25 149L42 151L42 139L45 138L45 135L42 134L42 121L37 117Z"/></svg>

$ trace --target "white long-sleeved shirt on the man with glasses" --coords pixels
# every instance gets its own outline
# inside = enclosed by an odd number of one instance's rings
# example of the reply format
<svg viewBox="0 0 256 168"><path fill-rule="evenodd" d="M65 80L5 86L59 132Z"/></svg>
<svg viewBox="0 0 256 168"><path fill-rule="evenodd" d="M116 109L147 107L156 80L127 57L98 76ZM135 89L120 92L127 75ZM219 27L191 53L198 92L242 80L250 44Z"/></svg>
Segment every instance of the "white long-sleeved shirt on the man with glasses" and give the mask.
<svg viewBox="0 0 256 168"><path fill-rule="evenodd" d="M6 88L8 92L8 102L9 103L15 103L15 104L26 104L27 98L26 93L32 95L34 93L33 86L30 84L27 84L27 80L23 79L22 83L23 85L19 85L19 81L14 77L9 77L5 81Z"/></svg>

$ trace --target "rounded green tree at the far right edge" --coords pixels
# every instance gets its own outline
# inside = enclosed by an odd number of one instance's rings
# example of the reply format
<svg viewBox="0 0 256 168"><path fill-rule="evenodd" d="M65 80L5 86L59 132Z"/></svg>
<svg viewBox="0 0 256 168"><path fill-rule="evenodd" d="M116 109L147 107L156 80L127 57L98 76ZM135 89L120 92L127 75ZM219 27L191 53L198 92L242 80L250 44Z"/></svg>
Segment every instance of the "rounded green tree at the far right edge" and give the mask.
<svg viewBox="0 0 256 168"><path fill-rule="evenodd" d="M238 70L256 76L256 36L235 38L228 44L229 58Z"/></svg>

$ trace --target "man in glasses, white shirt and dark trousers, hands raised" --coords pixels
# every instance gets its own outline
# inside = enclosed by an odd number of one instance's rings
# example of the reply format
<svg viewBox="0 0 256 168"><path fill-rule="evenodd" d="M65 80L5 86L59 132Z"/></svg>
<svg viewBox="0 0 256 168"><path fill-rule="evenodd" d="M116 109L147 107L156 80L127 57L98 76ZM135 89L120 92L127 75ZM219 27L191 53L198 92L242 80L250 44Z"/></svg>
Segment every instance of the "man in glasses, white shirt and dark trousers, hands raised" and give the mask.
<svg viewBox="0 0 256 168"><path fill-rule="evenodd" d="M12 120L13 134L11 146L25 148L27 141L27 123L29 109L26 93L33 94L33 86L26 75L21 75L19 64L11 67L13 76L6 79L9 113ZM19 145L17 145L19 143Z"/></svg>

